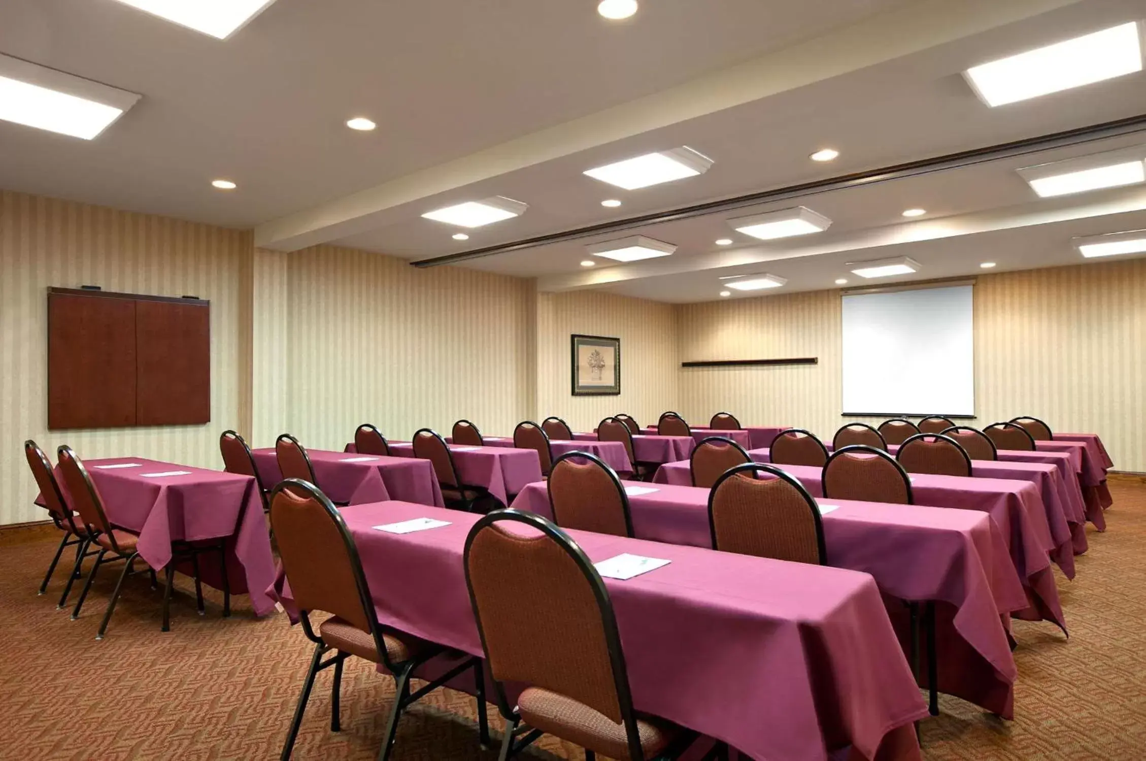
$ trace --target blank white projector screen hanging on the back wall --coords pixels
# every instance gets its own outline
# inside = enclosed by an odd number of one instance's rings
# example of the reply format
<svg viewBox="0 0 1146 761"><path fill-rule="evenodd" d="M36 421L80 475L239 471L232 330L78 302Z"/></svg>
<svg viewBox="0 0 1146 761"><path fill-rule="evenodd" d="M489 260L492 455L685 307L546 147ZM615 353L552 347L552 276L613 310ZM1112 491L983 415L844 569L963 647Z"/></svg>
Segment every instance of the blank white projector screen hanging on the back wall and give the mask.
<svg viewBox="0 0 1146 761"><path fill-rule="evenodd" d="M843 297L843 414L974 415L971 285Z"/></svg>

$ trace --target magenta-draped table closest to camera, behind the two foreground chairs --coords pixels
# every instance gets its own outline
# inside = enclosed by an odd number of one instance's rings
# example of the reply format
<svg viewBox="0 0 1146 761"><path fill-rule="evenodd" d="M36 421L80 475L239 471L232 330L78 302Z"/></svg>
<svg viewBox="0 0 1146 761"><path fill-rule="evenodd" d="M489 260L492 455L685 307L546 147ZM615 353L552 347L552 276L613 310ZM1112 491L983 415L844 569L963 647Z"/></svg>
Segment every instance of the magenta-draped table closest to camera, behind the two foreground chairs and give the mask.
<svg viewBox="0 0 1146 761"><path fill-rule="evenodd" d="M352 505L342 515L379 621L481 656L463 564L480 516L406 502ZM407 534L376 528L415 518L448 525ZM912 722L927 707L869 574L567 533L595 563L622 552L669 560L626 581L604 580L637 711L758 760L824 761L849 745L857 761L920 758ZM274 590L293 612L285 580Z"/></svg>

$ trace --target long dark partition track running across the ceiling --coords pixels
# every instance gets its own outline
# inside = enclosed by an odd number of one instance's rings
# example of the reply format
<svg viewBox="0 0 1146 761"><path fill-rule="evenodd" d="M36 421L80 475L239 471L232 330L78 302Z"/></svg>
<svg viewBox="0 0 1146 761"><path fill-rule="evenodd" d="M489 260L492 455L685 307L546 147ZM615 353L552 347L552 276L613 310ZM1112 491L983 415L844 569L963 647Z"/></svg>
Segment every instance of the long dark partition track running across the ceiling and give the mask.
<svg viewBox="0 0 1146 761"><path fill-rule="evenodd" d="M472 251L460 251L458 253L449 253L441 257L432 257L430 259L418 259L417 261L411 261L410 264L415 267L453 265L460 261L468 261L469 259L493 257L501 253L510 253L511 251L523 251L525 249L535 249L537 246L550 245L552 243L564 243L566 241L575 241L578 238L591 237L607 233L623 233L634 228L646 227L649 225L657 225L660 222L673 222L682 219L692 219L693 217L736 211L745 206L755 206L775 201L788 201L803 196L829 193L832 190L861 188L880 182L892 182L893 180L903 180L906 178L920 176L923 174L932 174L934 172L958 170L967 166L975 166L978 164L997 162L1004 158L1015 158L1019 156L1037 154L1044 150L1052 150L1054 148L1082 146L1099 140L1120 138L1138 132L1146 132L1146 113L1139 113L1138 116L1117 119L1115 121L1092 124L1076 130L1067 130L1066 132L1055 132L1047 135L1039 135L1037 138L1027 138L1025 140L1015 140L1013 142L999 143L997 146L987 146L984 148L974 148L972 150L965 150L957 154L947 154L944 156L924 158L917 162L909 162L906 164L896 164L894 166L855 172L853 174L841 174L839 176L825 178L813 182L790 185L784 188L749 193L747 195L724 198L721 201L708 201L700 204L693 204L691 206L681 206L678 209L669 209L667 211L654 212L651 214L618 219L610 222L603 222L601 225L578 227L563 233L539 235L536 237L515 241L512 243L502 243L482 249L473 249Z"/></svg>

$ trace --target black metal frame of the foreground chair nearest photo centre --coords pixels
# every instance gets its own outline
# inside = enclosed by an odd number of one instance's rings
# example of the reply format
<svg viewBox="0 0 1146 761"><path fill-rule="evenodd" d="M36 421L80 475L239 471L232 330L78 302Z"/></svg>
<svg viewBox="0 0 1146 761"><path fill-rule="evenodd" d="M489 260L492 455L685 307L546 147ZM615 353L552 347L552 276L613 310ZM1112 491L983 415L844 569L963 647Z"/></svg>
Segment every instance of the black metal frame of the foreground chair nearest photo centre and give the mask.
<svg viewBox="0 0 1146 761"><path fill-rule="evenodd" d="M499 510L496 512L490 512L473 524L473 527L470 529L470 534L465 538L465 549L462 556L463 564L465 566L465 586L470 591L470 605L473 607L473 619L478 625L478 634L481 637L481 649L485 651L486 658L489 657L489 649L486 645L486 633L481 623L481 611L478 610L478 599L473 593L473 581L470 578L470 550L473 546L473 540L478 536L478 534L480 534L486 527L492 526L494 523L503 520L525 524L526 526L541 532L550 541L556 543L557 547L564 550L576 565L578 570L580 570L584 575L586 581L592 589L592 595L597 601L597 610L601 613L601 621L605 629L605 645L609 649L609 660L613 672L613 685L617 689L617 701L620 705L622 723L625 724L625 733L628 739L629 756L631 761L644 761L644 751L641 748L641 737L637 733L636 711L633 708L633 695L629 691L629 677L628 669L625 665L625 651L621 649L621 636L617 628L617 617L613 613L613 603L609 597L609 590L605 588L605 582L601 579L601 574L598 574L597 570L592 566L592 562L578 546L578 543L573 541L573 539L560 527L539 515L521 512L520 510ZM494 696L497 700L497 709L505 720L505 733L502 737L501 754L497 758L499 761L507 761L507 759L512 758L533 744L542 736L543 732L540 729L529 729L529 727L521 724L520 714L513 711L510 706L509 699L505 697L505 688L497 680L494 680ZM519 736L523 736L520 740L517 739ZM697 735L694 732L685 731L680 739L677 739L664 753L659 754L654 761L670 761L676 759L678 755L684 753L684 751L686 751L696 739ZM716 752L720 746L721 744L717 743L717 747L714 747L713 751L705 756L705 759L713 758L713 753ZM588 751L586 753L586 759L587 761L594 761L594 753Z"/></svg>

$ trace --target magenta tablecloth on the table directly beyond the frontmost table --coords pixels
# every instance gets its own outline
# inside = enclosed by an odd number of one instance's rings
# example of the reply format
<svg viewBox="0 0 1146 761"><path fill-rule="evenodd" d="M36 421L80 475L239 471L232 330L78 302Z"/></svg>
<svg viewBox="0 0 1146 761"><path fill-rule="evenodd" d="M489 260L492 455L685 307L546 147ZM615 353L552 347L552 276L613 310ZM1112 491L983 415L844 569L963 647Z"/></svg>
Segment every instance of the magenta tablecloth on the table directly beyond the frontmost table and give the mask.
<svg viewBox="0 0 1146 761"><path fill-rule="evenodd" d="M629 496L637 538L712 547L708 489L656 488ZM823 517L829 564L870 573L885 594L900 599L941 601L939 689L1010 719L1017 672L1000 615L1026 609L1027 596L990 517L973 510L822 502L839 505ZM544 484L527 486L513 508L552 517ZM901 634L906 642L906 626Z"/></svg>

